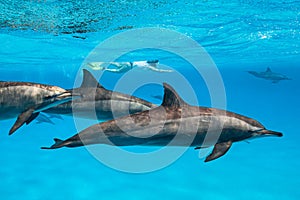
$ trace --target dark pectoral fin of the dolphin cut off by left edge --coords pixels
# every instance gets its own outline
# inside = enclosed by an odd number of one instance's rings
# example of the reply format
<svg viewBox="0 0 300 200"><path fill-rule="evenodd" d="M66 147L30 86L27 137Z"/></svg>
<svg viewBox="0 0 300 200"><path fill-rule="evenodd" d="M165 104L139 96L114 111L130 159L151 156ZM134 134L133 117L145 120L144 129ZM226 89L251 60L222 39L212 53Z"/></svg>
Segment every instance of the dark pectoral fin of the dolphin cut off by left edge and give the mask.
<svg viewBox="0 0 300 200"><path fill-rule="evenodd" d="M22 112L18 116L12 128L10 129L9 135L13 134L16 130L18 130L21 126L23 126L23 124L25 123L29 124L30 122L32 122L32 120L34 120L39 115L39 112L34 112L34 111L35 110L33 108L30 108Z"/></svg>

